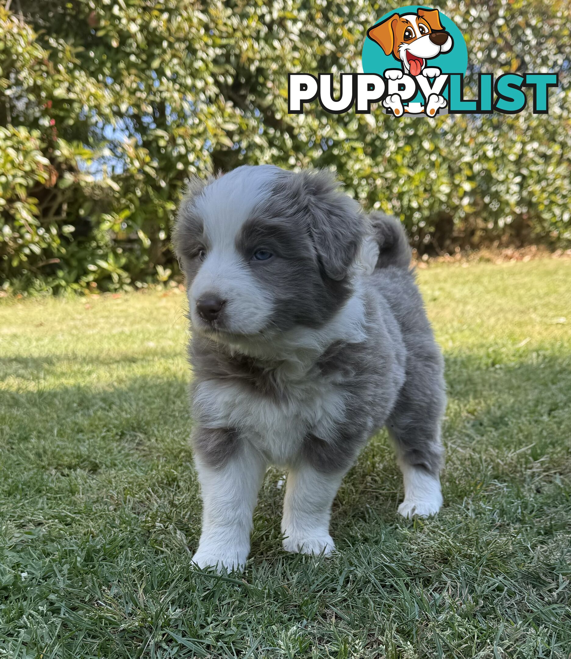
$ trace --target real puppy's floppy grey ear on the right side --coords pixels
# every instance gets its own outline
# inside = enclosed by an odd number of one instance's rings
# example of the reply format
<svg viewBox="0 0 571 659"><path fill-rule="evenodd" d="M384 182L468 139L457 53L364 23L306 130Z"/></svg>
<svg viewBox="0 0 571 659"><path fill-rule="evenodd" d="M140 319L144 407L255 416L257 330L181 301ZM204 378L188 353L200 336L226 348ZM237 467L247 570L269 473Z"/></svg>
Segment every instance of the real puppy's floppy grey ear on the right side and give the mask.
<svg viewBox="0 0 571 659"><path fill-rule="evenodd" d="M327 169L302 172L304 206L319 262L330 279L344 279L360 249L365 225L361 208L340 190Z"/></svg>

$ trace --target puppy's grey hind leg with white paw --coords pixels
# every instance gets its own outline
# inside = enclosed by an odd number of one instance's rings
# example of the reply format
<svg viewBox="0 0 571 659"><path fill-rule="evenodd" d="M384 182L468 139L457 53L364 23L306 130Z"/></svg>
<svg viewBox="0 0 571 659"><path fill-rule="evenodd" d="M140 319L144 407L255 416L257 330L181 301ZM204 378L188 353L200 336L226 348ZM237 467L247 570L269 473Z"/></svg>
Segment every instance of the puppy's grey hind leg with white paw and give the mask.
<svg viewBox="0 0 571 659"><path fill-rule="evenodd" d="M428 393L406 382L387 421L404 478L404 501L398 506L403 517L435 515L443 502L440 428L446 398L443 383L438 384Z"/></svg>

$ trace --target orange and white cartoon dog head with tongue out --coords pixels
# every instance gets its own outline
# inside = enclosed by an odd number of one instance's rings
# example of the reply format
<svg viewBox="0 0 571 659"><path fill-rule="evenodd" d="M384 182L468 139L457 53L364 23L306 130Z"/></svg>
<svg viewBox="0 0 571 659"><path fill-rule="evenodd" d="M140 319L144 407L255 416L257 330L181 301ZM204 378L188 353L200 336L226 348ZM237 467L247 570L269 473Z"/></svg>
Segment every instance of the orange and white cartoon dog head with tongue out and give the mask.
<svg viewBox="0 0 571 659"><path fill-rule="evenodd" d="M440 22L438 9L419 9L416 14L393 14L367 30L367 36L378 43L385 55L402 62L404 71L418 76L440 53L452 49L452 37Z"/></svg>

